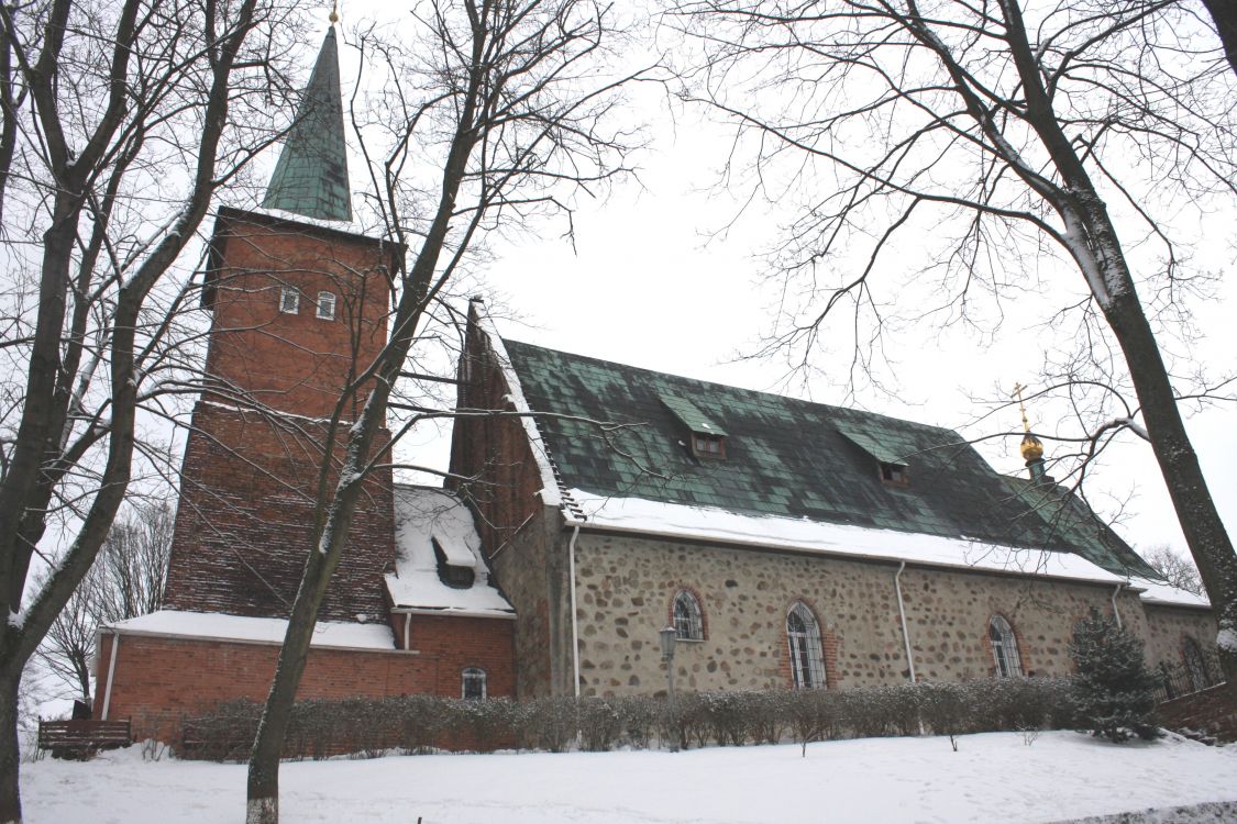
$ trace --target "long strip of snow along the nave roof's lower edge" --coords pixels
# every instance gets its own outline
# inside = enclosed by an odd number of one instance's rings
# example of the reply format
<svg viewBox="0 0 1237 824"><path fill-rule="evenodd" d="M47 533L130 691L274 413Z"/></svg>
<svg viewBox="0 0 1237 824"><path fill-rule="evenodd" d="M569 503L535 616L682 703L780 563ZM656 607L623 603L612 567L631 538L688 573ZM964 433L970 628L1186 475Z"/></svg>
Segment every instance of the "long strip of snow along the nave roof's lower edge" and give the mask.
<svg viewBox="0 0 1237 824"><path fill-rule="evenodd" d="M1072 552L1050 552L919 532L735 513L640 498L570 492L595 528L931 566L1017 572L1117 584L1123 577Z"/></svg>

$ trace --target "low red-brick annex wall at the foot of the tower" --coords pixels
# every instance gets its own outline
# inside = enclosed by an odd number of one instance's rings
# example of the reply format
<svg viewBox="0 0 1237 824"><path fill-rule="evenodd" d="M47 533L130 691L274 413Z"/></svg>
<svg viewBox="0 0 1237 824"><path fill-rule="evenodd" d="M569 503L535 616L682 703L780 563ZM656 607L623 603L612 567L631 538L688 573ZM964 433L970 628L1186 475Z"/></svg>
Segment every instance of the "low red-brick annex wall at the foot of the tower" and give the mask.
<svg viewBox="0 0 1237 824"><path fill-rule="evenodd" d="M461 670L486 671L491 697L513 696L511 621L428 616L413 621L417 649L313 649L297 697L382 698L412 693L460 697ZM94 717L106 699L113 635L99 650ZM132 720L136 740L174 741L182 718L225 700L266 700L280 647L182 637L121 635L110 719Z"/></svg>

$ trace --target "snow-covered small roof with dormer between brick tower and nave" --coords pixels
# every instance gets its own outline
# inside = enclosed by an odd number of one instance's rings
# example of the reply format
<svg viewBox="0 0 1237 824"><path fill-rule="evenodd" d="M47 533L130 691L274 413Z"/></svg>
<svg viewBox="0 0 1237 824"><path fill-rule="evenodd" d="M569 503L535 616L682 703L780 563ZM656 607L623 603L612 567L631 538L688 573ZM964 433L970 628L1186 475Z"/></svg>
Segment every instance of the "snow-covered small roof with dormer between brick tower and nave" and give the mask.
<svg viewBox="0 0 1237 824"><path fill-rule="evenodd" d="M434 542L442 549L448 565L473 570L471 587L458 589L443 583L438 577ZM449 492L396 486L395 545L395 573L385 576L393 609L479 616L515 615L511 604L490 586L473 513Z"/></svg>

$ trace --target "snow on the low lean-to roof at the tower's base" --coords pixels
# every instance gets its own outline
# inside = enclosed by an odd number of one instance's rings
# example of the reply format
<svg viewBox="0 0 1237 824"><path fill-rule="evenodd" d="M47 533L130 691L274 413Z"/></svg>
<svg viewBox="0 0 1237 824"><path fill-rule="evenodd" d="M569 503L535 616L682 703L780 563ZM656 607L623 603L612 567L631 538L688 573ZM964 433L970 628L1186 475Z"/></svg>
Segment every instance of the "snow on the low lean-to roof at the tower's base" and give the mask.
<svg viewBox="0 0 1237 824"><path fill-rule="evenodd" d="M223 613L188 613L162 609L157 613L110 624L124 635L171 635L178 637L283 644L288 623L282 618L249 618ZM387 624L318 621L312 645L356 650L393 650L395 635Z"/></svg>

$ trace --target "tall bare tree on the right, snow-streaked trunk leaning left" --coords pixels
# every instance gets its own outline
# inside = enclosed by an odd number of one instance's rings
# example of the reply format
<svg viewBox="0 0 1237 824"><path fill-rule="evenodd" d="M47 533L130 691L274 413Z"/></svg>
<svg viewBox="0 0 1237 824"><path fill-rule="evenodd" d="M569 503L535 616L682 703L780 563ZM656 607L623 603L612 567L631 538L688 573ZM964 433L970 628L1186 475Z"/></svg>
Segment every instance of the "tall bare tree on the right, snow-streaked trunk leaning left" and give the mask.
<svg viewBox="0 0 1237 824"><path fill-rule="evenodd" d="M1237 557L1179 409L1231 376L1171 373L1155 331L1180 329L1199 287L1169 216L1237 194L1235 78L1207 21L1168 0L701 0L670 19L703 48L688 96L738 126L729 182L746 167L751 194L800 198L766 353L805 366L847 310L856 351L878 343L896 304L881 278L907 268L891 257L923 261L920 319L991 335L1004 301L1043 301L1075 343L1048 371L1118 390L1079 442L1133 432L1154 450L1237 689Z"/></svg>

